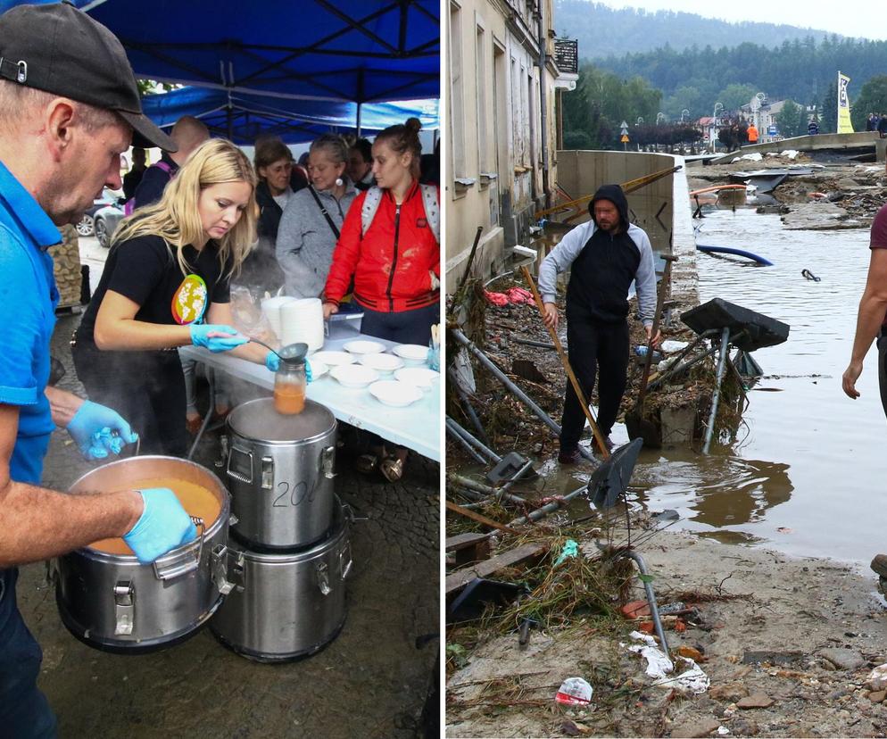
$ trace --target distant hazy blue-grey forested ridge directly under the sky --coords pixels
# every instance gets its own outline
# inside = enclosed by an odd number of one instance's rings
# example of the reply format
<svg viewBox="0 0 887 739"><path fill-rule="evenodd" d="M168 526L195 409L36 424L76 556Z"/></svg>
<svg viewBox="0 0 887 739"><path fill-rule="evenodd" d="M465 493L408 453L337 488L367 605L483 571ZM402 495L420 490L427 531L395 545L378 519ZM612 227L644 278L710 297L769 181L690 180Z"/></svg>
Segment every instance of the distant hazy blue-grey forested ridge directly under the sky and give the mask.
<svg viewBox="0 0 887 739"><path fill-rule="evenodd" d="M766 15L766 5L764 14ZM738 46L750 42L767 48L784 40L821 38L825 30L800 29L773 23L728 23L689 12L647 12L636 8L617 10L588 0L555 0L554 28L561 36L579 41L579 56L600 59L669 45Z"/></svg>

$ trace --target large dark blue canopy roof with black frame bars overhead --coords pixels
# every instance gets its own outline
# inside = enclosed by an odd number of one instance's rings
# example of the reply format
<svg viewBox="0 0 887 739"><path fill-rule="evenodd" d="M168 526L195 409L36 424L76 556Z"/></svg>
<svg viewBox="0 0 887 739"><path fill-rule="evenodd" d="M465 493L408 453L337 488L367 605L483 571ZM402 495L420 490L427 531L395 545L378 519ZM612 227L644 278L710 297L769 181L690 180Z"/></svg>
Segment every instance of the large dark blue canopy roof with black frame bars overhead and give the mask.
<svg viewBox="0 0 887 739"><path fill-rule="evenodd" d="M440 96L438 0L77 4L141 78L357 104Z"/></svg>

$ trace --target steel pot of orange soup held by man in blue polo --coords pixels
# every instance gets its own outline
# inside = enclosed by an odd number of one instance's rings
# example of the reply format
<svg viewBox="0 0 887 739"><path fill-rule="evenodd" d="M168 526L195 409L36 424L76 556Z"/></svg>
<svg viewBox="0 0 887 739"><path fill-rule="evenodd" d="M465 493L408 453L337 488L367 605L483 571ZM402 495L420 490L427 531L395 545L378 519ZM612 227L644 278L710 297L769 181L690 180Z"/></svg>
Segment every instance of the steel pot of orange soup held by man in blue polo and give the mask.
<svg viewBox="0 0 887 739"><path fill-rule="evenodd" d="M132 457L88 472L70 493L126 490L158 477L210 490L220 502L219 517L198 527L194 542L153 564L140 564L131 554L89 548L54 560L50 572L62 622L90 646L135 653L184 641L210 618L231 588L225 577L228 491L208 469L175 457Z"/></svg>

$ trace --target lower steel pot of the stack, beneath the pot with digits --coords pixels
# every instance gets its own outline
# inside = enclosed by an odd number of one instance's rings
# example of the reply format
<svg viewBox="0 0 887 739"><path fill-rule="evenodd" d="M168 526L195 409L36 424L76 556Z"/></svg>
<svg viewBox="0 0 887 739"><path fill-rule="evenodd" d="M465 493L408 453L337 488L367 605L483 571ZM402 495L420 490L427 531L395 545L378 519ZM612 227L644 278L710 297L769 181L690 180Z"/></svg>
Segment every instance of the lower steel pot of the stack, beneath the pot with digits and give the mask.
<svg viewBox="0 0 887 739"><path fill-rule="evenodd" d="M213 634L253 660L295 660L318 652L344 626L344 580L352 567L348 524L336 501L330 535L300 552L228 548L235 587L212 617Z"/></svg>

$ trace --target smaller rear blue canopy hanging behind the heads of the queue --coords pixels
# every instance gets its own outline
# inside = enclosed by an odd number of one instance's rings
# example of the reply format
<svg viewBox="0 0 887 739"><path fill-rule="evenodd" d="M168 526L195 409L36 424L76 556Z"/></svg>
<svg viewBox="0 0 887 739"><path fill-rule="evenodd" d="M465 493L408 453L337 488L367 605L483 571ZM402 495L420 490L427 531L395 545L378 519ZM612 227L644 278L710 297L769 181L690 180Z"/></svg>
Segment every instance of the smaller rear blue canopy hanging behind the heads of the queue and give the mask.
<svg viewBox="0 0 887 739"><path fill-rule="evenodd" d="M298 100L232 92L207 87L182 87L164 95L148 95L145 115L158 126L171 126L183 115L193 115L214 136L250 145L260 133L275 134L287 144L311 141L327 131L350 133L357 128L357 104ZM361 129L372 133L415 117L422 128L439 129L438 101L370 103L362 106Z"/></svg>

